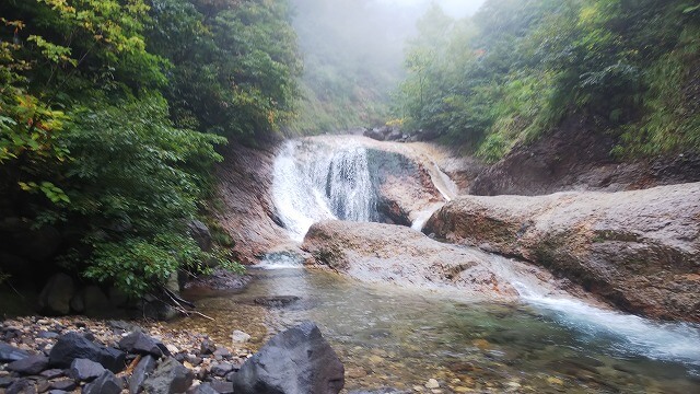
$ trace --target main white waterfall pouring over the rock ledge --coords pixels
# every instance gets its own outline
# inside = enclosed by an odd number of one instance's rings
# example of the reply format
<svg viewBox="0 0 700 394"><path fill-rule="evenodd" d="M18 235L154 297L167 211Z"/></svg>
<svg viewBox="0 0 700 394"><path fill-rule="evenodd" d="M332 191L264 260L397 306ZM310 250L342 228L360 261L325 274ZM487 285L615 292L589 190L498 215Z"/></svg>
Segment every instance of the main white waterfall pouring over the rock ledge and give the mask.
<svg viewBox="0 0 700 394"><path fill-rule="evenodd" d="M374 220L376 193L366 149L288 141L275 160L272 200L298 242L322 220Z"/></svg>

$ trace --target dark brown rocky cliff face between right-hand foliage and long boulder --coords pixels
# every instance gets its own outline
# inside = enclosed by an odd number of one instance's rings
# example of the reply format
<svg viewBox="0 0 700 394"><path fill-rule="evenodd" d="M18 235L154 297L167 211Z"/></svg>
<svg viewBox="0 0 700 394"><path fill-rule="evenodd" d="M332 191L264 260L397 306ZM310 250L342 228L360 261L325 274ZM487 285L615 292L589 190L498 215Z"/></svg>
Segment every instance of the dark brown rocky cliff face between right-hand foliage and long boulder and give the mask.
<svg viewBox="0 0 700 394"><path fill-rule="evenodd" d="M599 126L567 119L550 135L515 147L503 160L479 171L470 194L537 196L700 182L697 154L619 161L610 154L616 143Z"/></svg>

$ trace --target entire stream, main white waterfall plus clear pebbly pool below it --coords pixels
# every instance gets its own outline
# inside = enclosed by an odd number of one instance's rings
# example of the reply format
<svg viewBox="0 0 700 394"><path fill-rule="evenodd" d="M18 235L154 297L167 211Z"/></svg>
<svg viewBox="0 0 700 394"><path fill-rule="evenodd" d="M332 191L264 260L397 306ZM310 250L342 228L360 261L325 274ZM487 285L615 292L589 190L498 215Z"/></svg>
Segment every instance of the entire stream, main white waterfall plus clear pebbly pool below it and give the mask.
<svg viewBox="0 0 700 394"><path fill-rule="evenodd" d="M301 241L318 220L376 218L363 148L301 153L300 148L290 142L278 157L272 190L292 240ZM419 220L413 228L425 215ZM221 343L242 329L257 348L275 333L312 320L346 366L346 392L431 393L430 379L440 382L434 393L700 392L697 325L549 298L515 276L511 282L520 302L485 303L457 290L365 283L306 269L293 254L270 254L248 271L254 279L242 292L185 293L213 322L172 324ZM282 301L266 302L275 297Z"/></svg>

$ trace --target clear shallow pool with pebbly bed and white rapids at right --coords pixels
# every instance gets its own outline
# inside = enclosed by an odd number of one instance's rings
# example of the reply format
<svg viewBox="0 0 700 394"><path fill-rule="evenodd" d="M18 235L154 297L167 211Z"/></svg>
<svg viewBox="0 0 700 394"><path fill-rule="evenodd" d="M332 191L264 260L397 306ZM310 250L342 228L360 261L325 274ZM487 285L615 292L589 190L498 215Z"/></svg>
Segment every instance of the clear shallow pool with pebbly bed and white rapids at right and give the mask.
<svg viewBox="0 0 700 394"><path fill-rule="evenodd" d="M470 303L455 293L366 285L300 268L250 269L242 293L190 293L215 318L173 323L219 341L315 321L346 364L346 387L443 393L700 393L700 329L656 325L569 300ZM256 298L296 296L284 308ZM529 299L528 299L529 297Z"/></svg>

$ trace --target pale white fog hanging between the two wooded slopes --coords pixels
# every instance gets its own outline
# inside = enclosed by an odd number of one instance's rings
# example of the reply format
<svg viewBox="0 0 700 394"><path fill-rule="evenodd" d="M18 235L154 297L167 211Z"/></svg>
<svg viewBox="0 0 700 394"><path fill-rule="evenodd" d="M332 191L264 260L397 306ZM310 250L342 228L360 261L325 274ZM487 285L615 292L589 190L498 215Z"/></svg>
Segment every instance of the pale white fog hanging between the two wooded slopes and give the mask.
<svg viewBox="0 0 700 394"><path fill-rule="evenodd" d="M486 0L435 0L452 18ZM431 0L291 0L304 61L302 131L365 126L388 113L406 43ZM324 119L323 121L318 119ZM323 123L323 125L320 125Z"/></svg>

